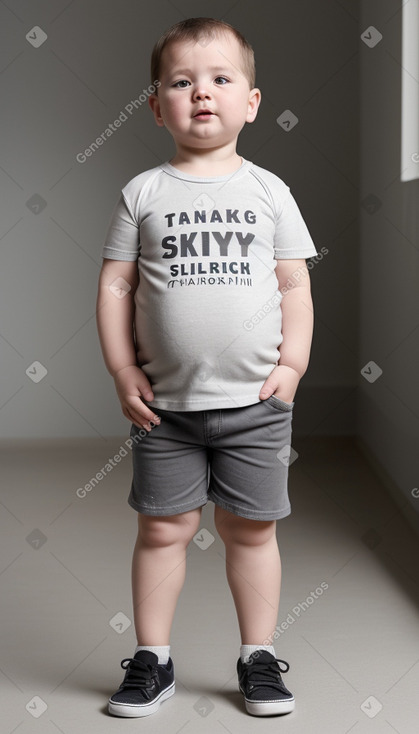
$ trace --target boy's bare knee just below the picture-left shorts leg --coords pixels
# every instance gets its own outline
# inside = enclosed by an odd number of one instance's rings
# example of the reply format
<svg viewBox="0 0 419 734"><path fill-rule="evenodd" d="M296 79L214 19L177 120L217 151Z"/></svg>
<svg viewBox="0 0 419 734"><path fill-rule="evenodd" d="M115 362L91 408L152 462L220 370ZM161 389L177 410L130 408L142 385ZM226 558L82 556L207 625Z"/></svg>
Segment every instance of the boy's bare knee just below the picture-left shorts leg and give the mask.
<svg viewBox="0 0 419 734"><path fill-rule="evenodd" d="M201 513L155 516L138 513L138 538L145 545L163 548L187 545L198 531Z"/></svg>

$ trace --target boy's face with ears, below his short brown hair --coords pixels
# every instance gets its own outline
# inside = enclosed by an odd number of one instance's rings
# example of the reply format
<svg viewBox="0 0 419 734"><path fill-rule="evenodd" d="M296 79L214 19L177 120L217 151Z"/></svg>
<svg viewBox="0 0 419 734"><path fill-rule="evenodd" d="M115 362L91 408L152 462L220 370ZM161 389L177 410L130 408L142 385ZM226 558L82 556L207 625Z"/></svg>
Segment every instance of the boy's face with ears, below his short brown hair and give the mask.
<svg viewBox="0 0 419 734"><path fill-rule="evenodd" d="M156 122L177 146L217 148L235 141L253 122L260 91L249 89L240 47L232 34L205 42L171 43L163 51L158 95L149 97ZM202 110L212 114L198 115Z"/></svg>

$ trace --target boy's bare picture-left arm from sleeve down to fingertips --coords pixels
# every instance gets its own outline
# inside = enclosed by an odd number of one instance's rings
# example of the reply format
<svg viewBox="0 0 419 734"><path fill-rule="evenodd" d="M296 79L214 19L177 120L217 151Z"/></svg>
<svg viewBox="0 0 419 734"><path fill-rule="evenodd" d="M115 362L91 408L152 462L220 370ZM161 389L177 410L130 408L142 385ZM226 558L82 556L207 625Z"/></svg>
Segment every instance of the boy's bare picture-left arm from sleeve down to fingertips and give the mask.
<svg viewBox="0 0 419 734"><path fill-rule="evenodd" d="M141 396L152 400L154 395L146 375L137 365L133 328L138 277L137 261L103 259L96 323L103 359L115 380L123 414L134 424L150 430L149 421L156 422L156 416ZM114 292L109 287L111 285Z"/></svg>

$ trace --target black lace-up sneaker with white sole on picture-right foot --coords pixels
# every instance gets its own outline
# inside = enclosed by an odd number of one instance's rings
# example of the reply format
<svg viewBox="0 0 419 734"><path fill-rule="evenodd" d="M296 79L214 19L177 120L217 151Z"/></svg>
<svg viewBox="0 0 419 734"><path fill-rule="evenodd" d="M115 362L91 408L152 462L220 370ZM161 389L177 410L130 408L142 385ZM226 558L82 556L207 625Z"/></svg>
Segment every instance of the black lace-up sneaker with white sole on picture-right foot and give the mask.
<svg viewBox="0 0 419 734"><path fill-rule="evenodd" d="M286 665L285 670L278 663ZM288 714L294 710L294 696L285 688L281 673L287 673L289 665L267 650L256 650L249 655L249 662L237 661L239 690L244 695L246 711L253 716Z"/></svg>

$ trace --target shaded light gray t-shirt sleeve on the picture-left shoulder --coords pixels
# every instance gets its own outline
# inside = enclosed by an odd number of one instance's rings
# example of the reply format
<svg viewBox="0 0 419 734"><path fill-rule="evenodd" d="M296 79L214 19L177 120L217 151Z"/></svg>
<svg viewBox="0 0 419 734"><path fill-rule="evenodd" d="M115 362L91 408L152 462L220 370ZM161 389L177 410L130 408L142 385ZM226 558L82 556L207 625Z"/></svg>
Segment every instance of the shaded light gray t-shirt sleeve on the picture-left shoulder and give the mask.
<svg viewBox="0 0 419 734"><path fill-rule="evenodd" d="M138 260L140 254L139 225L123 193L113 210L102 257L111 260Z"/></svg>

